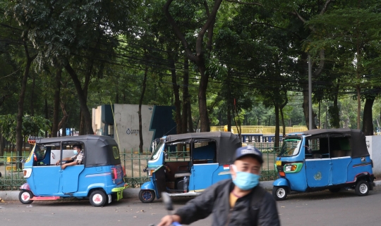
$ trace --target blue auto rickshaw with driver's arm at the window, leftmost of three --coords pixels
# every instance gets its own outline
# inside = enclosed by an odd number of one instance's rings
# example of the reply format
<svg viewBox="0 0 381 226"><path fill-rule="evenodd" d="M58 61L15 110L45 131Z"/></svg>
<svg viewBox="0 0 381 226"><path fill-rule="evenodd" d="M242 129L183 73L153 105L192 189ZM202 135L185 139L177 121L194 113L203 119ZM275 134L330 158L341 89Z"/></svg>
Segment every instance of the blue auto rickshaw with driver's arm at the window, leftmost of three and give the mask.
<svg viewBox="0 0 381 226"><path fill-rule="evenodd" d="M123 197L125 171L121 166L118 144L111 137L54 137L35 139L30 143L35 146L24 164L27 183L20 187L21 203L75 197L90 199L92 206L104 206ZM82 146L83 164L70 165L62 170L63 158L75 156L75 144Z"/></svg>

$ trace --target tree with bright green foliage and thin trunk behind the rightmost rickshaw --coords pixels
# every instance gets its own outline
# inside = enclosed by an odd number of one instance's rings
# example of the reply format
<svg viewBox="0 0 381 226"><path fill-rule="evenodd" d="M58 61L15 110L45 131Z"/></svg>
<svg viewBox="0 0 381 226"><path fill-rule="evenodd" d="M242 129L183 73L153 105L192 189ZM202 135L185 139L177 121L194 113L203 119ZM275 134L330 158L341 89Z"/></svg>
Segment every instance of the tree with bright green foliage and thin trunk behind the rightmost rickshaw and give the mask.
<svg viewBox="0 0 381 226"><path fill-rule="evenodd" d="M374 65L374 61L379 61L378 58L367 57L367 51L372 49L377 54L381 53L381 49L377 48L381 18L380 13L373 8L375 5L369 5L369 3L360 4L358 7L356 5L349 4L344 9L316 16L307 24L315 27L315 32L310 35L308 49L315 52L317 49L332 49L337 56L335 61L343 62L344 70L351 75L351 86L356 89L357 94L357 128L360 129L361 89L372 84L370 80L364 80L363 75L370 73L371 68L368 65ZM340 52L341 49L344 51ZM373 103L367 105L367 108L371 109L372 105ZM368 112L371 113L371 111ZM372 117L368 115L367 118ZM373 134L373 126L371 134Z"/></svg>

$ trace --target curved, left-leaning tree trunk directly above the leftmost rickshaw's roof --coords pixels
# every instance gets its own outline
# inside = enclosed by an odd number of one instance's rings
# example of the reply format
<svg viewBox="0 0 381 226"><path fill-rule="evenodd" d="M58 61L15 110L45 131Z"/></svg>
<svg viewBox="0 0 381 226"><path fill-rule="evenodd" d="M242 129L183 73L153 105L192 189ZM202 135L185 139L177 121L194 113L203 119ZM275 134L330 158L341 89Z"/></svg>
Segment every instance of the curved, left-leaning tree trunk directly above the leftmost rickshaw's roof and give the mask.
<svg viewBox="0 0 381 226"><path fill-rule="evenodd" d="M80 86L80 80L78 79L78 75L75 73L73 68L71 68L70 63L67 63L65 65L65 69L71 76L71 79L73 80L73 83L75 85L75 89L78 93L78 99L80 101L80 110L82 111L83 118L85 120L85 132L86 134L94 134L94 132L92 131L91 114L89 108L87 108L87 99L85 96L85 92L82 90L82 87Z"/></svg>

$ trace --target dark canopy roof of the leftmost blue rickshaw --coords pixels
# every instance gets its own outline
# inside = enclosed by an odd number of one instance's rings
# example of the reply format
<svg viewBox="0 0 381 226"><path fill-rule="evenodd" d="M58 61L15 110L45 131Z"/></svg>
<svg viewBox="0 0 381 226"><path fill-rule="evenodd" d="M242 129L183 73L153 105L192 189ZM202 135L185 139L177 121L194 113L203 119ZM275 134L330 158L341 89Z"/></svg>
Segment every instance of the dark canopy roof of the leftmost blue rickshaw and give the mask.
<svg viewBox="0 0 381 226"><path fill-rule="evenodd" d="M37 139L36 144L54 143L81 144L85 153L85 166L118 165L121 163L119 149L114 157L113 147L118 147L115 140L108 136L81 135Z"/></svg>

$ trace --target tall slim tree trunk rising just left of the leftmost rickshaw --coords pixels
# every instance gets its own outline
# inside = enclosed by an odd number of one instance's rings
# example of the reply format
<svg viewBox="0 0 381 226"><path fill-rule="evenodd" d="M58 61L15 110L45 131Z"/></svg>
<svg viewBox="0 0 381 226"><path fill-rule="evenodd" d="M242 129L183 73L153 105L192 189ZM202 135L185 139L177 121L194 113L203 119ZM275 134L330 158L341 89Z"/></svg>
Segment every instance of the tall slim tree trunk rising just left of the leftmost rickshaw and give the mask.
<svg viewBox="0 0 381 226"><path fill-rule="evenodd" d="M30 65L32 65L32 61L35 59L35 56L30 57L28 52L28 46L24 43L25 55L26 55L26 65L23 74L23 81L21 82L21 90L20 95L18 96L18 113L16 115L17 125L16 125L16 151L17 156L22 156L23 149L23 115L24 115L24 101L25 101L25 91L28 83L28 76ZM19 159L20 160L20 159ZM22 167L21 162L18 162L16 165L17 169Z"/></svg>

